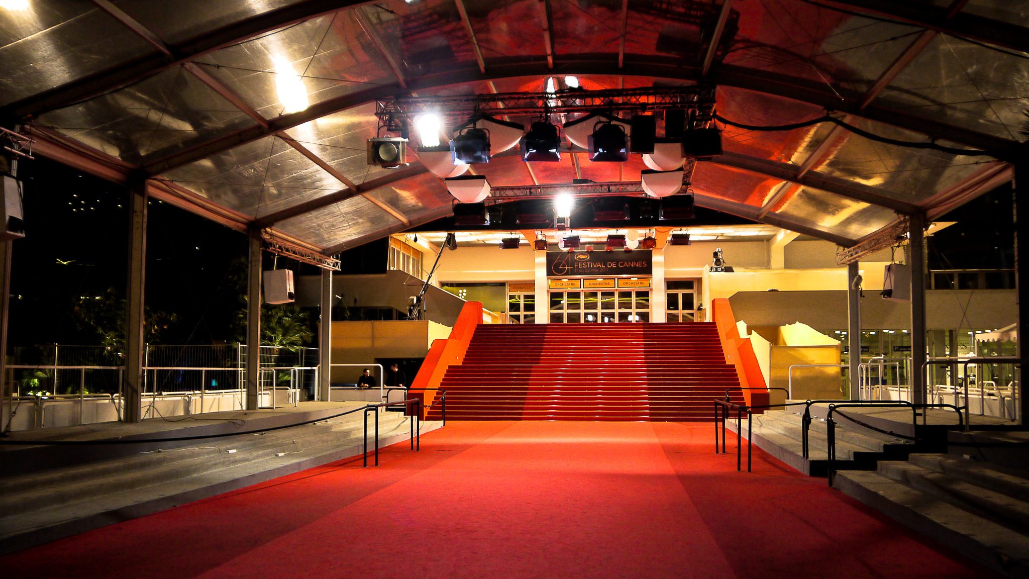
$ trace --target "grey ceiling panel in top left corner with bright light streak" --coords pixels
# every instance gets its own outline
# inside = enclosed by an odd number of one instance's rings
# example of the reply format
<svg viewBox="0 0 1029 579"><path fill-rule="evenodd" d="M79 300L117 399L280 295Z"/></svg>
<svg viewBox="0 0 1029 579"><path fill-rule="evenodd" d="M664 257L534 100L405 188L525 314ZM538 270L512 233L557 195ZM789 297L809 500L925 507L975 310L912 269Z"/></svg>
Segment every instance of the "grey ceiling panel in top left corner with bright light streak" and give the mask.
<svg viewBox="0 0 1029 579"><path fill-rule="evenodd" d="M156 50L85 0L0 10L0 105Z"/></svg>

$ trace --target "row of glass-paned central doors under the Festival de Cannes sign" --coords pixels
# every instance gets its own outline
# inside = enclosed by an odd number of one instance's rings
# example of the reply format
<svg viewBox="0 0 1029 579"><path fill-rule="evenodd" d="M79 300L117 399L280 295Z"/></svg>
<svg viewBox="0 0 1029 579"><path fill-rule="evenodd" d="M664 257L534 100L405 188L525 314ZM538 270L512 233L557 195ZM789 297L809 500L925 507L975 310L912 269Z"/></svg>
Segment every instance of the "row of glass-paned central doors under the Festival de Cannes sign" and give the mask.
<svg viewBox="0 0 1029 579"><path fill-rule="evenodd" d="M551 291L552 323L650 321L650 290Z"/></svg>

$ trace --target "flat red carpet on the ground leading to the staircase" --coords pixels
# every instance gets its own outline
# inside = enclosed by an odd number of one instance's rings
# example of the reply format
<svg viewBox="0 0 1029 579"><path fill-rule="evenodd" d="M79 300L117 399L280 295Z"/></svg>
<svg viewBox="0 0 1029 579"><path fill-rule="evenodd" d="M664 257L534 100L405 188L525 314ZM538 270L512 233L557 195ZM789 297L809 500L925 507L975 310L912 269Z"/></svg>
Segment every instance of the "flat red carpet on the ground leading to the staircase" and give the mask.
<svg viewBox="0 0 1029 579"><path fill-rule="evenodd" d="M987 577L712 427L451 422L0 557L8 577Z"/></svg>

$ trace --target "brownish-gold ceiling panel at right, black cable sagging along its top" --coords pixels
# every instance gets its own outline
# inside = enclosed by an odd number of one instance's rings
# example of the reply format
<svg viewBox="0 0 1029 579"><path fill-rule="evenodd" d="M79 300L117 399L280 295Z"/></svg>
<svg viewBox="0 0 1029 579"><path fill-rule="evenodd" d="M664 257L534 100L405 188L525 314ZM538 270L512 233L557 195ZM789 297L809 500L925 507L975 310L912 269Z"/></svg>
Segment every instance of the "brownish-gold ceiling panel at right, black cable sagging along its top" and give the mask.
<svg viewBox="0 0 1029 579"><path fill-rule="evenodd" d="M922 135L863 118L852 121L859 129L892 139L927 141ZM930 148L902 147L866 139L844 131L838 145L814 170L874 186L883 194L917 203L944 191L980 170L985 157L955 156ZM941 141L939 144L956 146Z"/></svg>

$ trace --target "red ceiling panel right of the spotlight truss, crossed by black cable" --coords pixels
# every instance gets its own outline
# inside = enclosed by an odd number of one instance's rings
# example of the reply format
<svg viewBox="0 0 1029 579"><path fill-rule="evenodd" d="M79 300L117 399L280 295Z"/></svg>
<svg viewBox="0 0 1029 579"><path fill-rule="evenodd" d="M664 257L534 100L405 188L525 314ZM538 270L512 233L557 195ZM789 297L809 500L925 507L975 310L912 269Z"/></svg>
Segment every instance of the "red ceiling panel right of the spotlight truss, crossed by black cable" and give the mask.
<svg viewBox="0 0 1029 579"><path fill-rule="evenodd" d="M718 113L730 121L744 125L789 125L817 118L818 108L799 101L762 95L754 91L719 87ZM722 146L725 150L758 159L782 163L803 163L814 147L818 146L820 125L791 131L748 131L733 126L722 128ZM799 152L804 155L799 155Z"/></svg>

